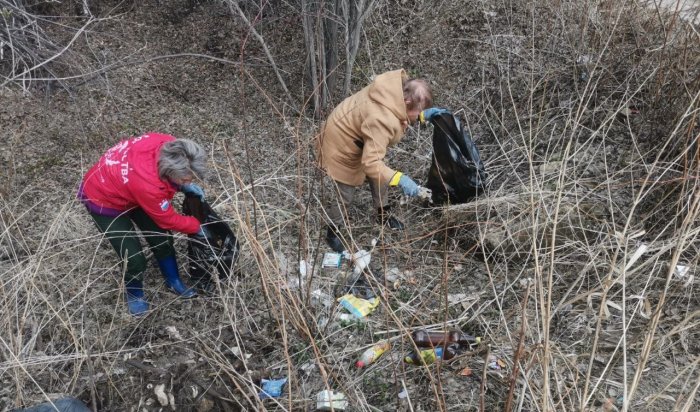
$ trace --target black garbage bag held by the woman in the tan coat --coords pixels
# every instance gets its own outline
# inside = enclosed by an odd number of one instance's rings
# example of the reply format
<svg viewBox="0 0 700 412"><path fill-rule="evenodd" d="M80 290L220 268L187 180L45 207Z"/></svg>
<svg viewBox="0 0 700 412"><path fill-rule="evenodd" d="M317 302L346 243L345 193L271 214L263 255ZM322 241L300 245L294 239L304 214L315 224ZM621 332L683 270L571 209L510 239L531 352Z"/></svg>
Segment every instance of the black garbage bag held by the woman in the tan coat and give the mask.
<svg viewBox="0 0 700 412"><path fill-rule="evenodd" d="M425 187L433 202L466 203L486 189L486 170L479 149L451 113L430 120L433 125L433 162Z"/></svg>

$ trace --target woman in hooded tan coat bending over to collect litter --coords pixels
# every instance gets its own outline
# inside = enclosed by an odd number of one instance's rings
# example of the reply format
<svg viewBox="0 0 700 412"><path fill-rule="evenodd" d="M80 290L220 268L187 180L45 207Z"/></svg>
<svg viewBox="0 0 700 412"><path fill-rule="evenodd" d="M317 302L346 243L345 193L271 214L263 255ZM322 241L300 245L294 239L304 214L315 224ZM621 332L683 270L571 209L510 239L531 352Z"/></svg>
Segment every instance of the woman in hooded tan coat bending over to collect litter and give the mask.
<svg viewBox="0 0 700 412"><path fill-rule="evenodd" d="M337 201L327 205L326 242L335 251L344 249L338 238L343 211L352 202L355 187L370 184L378 221L392 229L403 223L389 214L387 188L399 186L408 196L418 195L418 185L408 176L384 164L387 148L398 143L421 111L432 105L430 86L408 79L404 70L383 73L367 87L343 100L318 136L321 168L333 180Z"/></svg>

